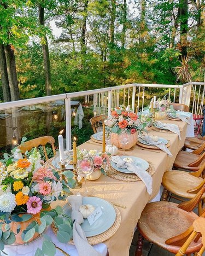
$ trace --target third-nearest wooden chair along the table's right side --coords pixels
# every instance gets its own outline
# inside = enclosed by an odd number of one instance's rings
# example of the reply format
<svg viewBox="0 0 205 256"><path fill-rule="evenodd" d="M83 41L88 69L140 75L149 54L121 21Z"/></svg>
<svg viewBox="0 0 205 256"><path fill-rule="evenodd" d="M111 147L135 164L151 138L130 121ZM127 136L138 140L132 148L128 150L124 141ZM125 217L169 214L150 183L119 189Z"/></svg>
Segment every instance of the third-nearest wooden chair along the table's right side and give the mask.
<svg viewBox="0 0 205 256"><path fill-rule="evenodd" d="M189 171L198 171L205 162L205 152L200 155L205 148L205 142L203 145L194 150L192 153L186 151L180 151L175 158L173 166L175 168L182 168Z"/></svg>

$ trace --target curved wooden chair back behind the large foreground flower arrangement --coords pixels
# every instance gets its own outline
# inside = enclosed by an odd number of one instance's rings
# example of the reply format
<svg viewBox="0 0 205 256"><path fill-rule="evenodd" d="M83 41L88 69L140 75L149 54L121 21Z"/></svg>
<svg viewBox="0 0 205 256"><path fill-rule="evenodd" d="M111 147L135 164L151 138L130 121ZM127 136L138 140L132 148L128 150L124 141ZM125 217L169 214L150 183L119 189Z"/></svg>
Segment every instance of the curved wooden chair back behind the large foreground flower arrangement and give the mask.
<svg viewBox="0 0 205 256"><path fill-rule="evenodd" d="M31 150L32 148L38 148L39 146L43 146L43 152L45 154L45 159L46 161L49 160L48 155L46 153L46 149L45 149L45 145L47 143L50 143L52 146L52 151L54 152L54 155L56 154L56 150L54 147L54 143L55 143L55 139L52 136L44 136L44 137L39 137L39 138L34 138L31 139L30 141L24 142L23 144L21 144L18 148L21 150L21 152L23 154L25 154L25 152L27 150Z"/></svg>

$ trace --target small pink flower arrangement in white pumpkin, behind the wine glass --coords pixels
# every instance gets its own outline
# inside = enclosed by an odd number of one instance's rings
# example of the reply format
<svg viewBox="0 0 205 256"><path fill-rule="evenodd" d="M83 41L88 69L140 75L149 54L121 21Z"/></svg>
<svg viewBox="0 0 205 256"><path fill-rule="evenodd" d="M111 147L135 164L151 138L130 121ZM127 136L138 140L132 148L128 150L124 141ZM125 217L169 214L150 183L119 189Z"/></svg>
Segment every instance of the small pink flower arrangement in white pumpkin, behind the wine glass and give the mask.
<svg viewBox="0 0 205 256"><path fill-rule="evenodd" d="M89 179L90 181L95 181L101 176L101 173L106 175L109 165L109 156L107 153L103 153L95 149L77 149L78 160L83 160L84 158L86 158L86 156L90 156L92 158L94 166L93 172L89 176L87 176L87 179Z"/></svg>

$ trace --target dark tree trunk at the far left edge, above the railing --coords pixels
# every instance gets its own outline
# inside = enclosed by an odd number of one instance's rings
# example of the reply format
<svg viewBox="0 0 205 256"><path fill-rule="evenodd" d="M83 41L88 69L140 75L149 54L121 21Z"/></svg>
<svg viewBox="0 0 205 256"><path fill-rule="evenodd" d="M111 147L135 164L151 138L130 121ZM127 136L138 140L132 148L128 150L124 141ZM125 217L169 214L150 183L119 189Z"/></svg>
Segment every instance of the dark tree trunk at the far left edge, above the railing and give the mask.
<svg viewBox="0 0 205 256"><path fill-rule="evenodd" d="M1 70L4 102L11 101L9 78L8 78L8 73L7 73L7 62L5 60L5 52L4 52L3 44L0 44L0 70Z"/></svg>

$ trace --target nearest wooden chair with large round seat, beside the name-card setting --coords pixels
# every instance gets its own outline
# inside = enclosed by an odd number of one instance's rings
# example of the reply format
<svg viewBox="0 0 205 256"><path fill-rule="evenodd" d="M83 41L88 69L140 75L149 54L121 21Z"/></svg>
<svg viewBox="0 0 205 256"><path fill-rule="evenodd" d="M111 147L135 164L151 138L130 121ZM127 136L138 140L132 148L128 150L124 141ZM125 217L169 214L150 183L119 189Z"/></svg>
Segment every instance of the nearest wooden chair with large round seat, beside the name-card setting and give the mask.
<svg viewBox="0 0 205 256"><path fill-rule="evenodd" d="M189 231L188 235L192 232L190 226L198 218L197 214L192 210L201 200L204 192L205 185L193 199L180 203L180 205L165 201L148 203L137 224L140 234L135 255L142 255L143 237L171 253L177 253L186 238L181 235L186 230ZM205 215L204 212L202 214ZM174 239L172 239L173 237ZM198 252L201 247L201 240L198 240L186 250L186 254Z"/></svg>

